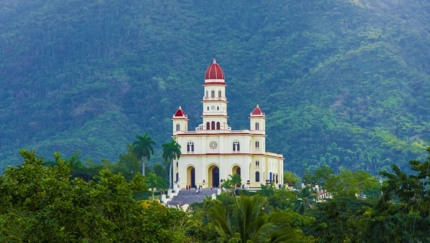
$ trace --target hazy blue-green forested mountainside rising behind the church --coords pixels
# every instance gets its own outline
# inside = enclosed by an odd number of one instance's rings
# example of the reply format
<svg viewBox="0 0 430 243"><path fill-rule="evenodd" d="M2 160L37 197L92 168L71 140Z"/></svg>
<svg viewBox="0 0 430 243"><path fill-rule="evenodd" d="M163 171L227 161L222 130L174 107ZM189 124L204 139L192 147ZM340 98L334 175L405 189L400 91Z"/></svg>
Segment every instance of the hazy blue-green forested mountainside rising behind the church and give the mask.
<svg viewBox="0 0 430 243"><path fill-rule="evenodd" d="M0 167L20 147L116 161L168 141L179 105L197 126L216 55L230 125L258 103L285 169L406 169L430 141L429 23L422 0L2 0Z"/></svg>

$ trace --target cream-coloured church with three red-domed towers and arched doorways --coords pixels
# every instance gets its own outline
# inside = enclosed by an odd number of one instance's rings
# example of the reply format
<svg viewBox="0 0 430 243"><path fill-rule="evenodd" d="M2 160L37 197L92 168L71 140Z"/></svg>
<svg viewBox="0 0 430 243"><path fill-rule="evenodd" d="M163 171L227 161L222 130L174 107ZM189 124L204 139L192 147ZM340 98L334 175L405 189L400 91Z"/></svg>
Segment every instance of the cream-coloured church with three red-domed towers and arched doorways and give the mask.
<svg viewBox="0 0 430 243"><path fill-rule="evenodd" d="M249 115L249 130L228 125L224 71L213 60L203 84L203 121L188 128L188 116L179 107L173 115L173 138L181 145L181 158L174 161L175 184L220 187L229 175L240 174L249 188L283 184L282 154L266 152L266 116L257 105Z"/></svg>

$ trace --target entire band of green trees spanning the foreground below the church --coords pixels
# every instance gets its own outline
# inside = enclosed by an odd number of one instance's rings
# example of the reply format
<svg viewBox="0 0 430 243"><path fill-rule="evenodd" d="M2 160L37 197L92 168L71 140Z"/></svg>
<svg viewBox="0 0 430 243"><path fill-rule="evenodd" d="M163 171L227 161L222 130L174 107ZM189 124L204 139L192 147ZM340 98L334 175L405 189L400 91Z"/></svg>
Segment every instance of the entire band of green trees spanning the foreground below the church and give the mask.
<svg viewBox="0 0 430 243"><path fill-rule="evenodd" d="M323 167L309 176L326 175L327 190L312 184L298 190L262 185L240 196L208 197L183 212L137 198L136 192L148 187L167 186L154 172L126 180L100 168L86 181L73 177L72 163L58 153L55 163L46 163L21 150L23 164L0 176L0 241L428 242L430 147L427 152L424 162L409 162L412 175L396 165L393 173L381 172L382 187L373 184L377 194L351 183L357 177L371 182L370 174L338 176ZM231 176L229 183L237 179ZM338 188L330 188L330 181Z"/></svg>

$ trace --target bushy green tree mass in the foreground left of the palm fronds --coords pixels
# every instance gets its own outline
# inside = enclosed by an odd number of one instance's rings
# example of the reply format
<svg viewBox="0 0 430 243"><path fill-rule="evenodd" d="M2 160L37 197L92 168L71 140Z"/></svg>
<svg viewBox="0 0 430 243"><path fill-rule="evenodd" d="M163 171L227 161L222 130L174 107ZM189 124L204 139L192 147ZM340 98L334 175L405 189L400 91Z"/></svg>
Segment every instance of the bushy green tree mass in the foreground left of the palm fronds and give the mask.
<svg viewBox="0 0 430 243"><path fill-rule="evenodd" d="M181 230L185 213L133 198L148 189L140 173L127 182L103 169L87 182L71 179L59 154L49 167L34 152L21 155L24 163L0 177L0 241L187 241Z"/></svg>

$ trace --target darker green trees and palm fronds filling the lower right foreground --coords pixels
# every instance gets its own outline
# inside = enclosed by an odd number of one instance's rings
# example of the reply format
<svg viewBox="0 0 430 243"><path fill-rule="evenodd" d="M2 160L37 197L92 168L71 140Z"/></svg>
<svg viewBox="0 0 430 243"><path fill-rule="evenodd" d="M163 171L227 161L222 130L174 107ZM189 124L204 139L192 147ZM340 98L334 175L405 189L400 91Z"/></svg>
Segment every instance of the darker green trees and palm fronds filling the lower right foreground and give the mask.
<svg viewBox="0 0 430 243"><path fill-rule="evenodd" d="M263 185L254 195L223 195L217 201L194 204L196 221L187 235L201 242L428 242L430 156L409 165L413 175L396 165L393 173L381 172L382 187L373 183L376 194L371 190L360 193L364 187L359 184L372 184L372 176L344 172L340 177L327 176L326 186L335 180L337 189L305 186L292 191ZM323 171L327 168L310 176L318 178ZM364 182L344 183L357 177ZM356 194L335 193L349 190ZM321 192L331 197L321 199ZM279 229L281 234L276 233Z"/></svg>

